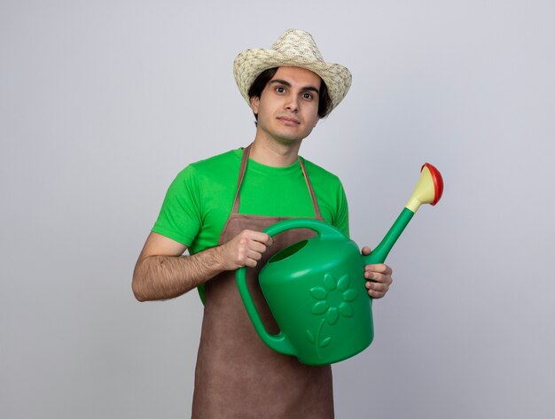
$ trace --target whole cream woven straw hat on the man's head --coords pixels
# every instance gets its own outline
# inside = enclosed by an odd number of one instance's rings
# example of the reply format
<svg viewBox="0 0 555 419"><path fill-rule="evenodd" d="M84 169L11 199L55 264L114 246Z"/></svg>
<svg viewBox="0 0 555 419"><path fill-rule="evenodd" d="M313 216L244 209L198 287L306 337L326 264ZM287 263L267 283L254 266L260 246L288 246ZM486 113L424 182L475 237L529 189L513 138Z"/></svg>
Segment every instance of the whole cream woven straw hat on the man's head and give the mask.
<svg viewBox="0 0 555 419"><path fill-rule="evenodd" d="M233 75L241 95L250 104L248 89L264 70L278 66L306 68L325 82L332 106L340 104L351 86L351 74L347 67L326 63L312 35L298 29L288 29L270 47L270 50L246 50L233 63Z"/></svg>

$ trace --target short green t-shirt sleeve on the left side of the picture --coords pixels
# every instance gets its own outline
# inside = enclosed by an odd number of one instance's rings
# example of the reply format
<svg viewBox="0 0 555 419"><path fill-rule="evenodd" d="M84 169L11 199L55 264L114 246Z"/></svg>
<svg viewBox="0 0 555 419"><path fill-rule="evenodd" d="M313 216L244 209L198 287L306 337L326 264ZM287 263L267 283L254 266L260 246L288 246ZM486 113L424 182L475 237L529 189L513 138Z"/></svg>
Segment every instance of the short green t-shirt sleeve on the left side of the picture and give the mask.
<svg viewBox="0 0 555 419"><path fill-rule="evenodd" d="M169 185L152 231L190 246L201 219L199 179L194 167L185 167Z"/></svg>

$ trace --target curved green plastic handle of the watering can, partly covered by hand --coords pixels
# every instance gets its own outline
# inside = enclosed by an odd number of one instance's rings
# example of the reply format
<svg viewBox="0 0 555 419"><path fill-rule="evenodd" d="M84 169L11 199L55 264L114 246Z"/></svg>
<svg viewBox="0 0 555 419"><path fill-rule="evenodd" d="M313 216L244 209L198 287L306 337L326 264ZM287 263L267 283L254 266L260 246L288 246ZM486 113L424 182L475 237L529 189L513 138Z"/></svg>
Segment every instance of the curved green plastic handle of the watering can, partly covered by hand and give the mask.
<svg viewBox="0 0 555 419"><path fill-rule="evenodd" d="M323 221L297 218L292 220L279 221L275 224L272 224L267 229L264 229L264 232L270 236L275 236L289 229L311 229L315 231L319 237L345 238L345 236L343 235L343 233L340 232L339 229L336 229L335 227L332 227L331 225L326 224ZM253 297L251 296L251 293L248 290L248 286L246 284L246 267L238 268L235 276L237 279L239 294L241 295L241 299L243 299L243 303L246 307L246 313L253 322L254 329L262 338L262 341L278 353L284 353L285 355L293 355L298 357L293 343L282 331L277 333L277 335L270 335L270 333L268 333L268 330L266 330L266 328L264 327L260 314L258 313L258 310L256 310L256 306L254 306Z"/></svg>

